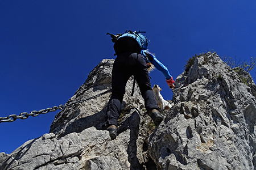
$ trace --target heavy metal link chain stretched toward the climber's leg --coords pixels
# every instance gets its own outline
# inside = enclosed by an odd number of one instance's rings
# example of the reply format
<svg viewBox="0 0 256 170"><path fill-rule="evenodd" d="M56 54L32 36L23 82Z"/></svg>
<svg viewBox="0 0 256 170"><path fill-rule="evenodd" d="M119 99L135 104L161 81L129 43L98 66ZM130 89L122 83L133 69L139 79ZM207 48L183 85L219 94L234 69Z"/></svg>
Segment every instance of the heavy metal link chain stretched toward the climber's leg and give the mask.
<svg viewBox="0 0 256 170"><path fill-rule="evenodd" d="M89 97L88 99L82 99L82 100L79 100L79 101L74 101L74 102L72 102L72 103L66 103L65 105L62 105L62 104L61 104L61 105L59 105L58 107L55 106L55 107L52 107L52 108L42 109L42 110L40 110L40 111L31 111L30 113L22 112L22 113L19 114L19 116L17 116L16 114L10 114L10 115L7 116L7 117L0 117L0 123L1 123L1 122L13 122L13 121L15 121L17 118L20 118L20 119L23 120L23 119L28 118L28 116L36 117L36 116L38 116L39 114L46 114L46 113L48 113L48 112L55 112L55 111L57 111L58 109L59 109L59 110L62 110L63 108L73 107L73 106L75 106L76 104L82 103L82 102L84 102L84 101L96 99L98 96L107 94L107 93L110 92L111 90L112 90L112 88L110 88L109 90L107 90L107 91L105 91L105 92L102 92L101 94L98 94L98 95Z"/></svg>

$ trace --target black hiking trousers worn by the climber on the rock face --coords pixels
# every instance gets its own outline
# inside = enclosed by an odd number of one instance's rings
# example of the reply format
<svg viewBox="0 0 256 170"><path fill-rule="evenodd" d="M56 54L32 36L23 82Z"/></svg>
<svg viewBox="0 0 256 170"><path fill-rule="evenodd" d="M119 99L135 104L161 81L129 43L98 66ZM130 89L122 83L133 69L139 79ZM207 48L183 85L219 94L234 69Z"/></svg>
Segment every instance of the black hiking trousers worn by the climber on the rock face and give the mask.
<svg viewBox="0 0 256 170"><path fill-rule="evenodd" d="M104 126L115 125L119 117L125 86L133 75L139 85L147 112L158 109L158 103L150 84L146 61L140 53L126 52L119 54L112 70L112 96L106 111Z"/></svg>

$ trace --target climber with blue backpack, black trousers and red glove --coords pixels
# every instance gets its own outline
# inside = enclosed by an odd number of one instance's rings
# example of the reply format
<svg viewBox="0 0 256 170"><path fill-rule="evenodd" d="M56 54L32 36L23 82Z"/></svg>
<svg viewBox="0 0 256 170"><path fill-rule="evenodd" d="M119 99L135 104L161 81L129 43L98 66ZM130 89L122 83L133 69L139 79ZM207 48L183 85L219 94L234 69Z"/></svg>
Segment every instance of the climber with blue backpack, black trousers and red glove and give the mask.
<svg viewBox="0 0 256 170"><path fill-rule="evenodd" d="M109 100L105 123L102 128L109 131L112 140L117 137L117 120L125 94L125 86L131 75L134 76L139 85L147 114L156 126L162 122L163 116L159 112L158 103L151 88L148 67L154 65L156 69L162 71L168 86L171 89L175 87L168 69L153 54L148 52L148 40L141 33L145 32L128 31L117 35L107 33L115 42L114 55L117 58L115 58L112 70L112 96Z"/></svg>

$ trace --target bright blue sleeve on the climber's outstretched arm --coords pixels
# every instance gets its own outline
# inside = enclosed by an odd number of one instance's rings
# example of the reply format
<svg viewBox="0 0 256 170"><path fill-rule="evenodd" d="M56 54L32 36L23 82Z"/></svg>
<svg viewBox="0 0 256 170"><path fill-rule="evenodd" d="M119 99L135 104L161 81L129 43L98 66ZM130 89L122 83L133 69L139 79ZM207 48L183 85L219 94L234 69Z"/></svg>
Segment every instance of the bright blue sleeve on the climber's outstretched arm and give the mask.
<svg viewBox="0 0 256 170"><path fill-rule="evenodd" d="M172 78L167 67L164 66L160 61L158 61L158 59L153 54L151 54L147 50L141 50L141 53L142 53L144 59L146 59L146 60L148 59L152 63L152 65L154 65L156 67L156 69L158 69L159 71L161 71L163 73L163 75L166 77L167 80ZM149 54L151 57L146 57L146 53Z"/></svg>

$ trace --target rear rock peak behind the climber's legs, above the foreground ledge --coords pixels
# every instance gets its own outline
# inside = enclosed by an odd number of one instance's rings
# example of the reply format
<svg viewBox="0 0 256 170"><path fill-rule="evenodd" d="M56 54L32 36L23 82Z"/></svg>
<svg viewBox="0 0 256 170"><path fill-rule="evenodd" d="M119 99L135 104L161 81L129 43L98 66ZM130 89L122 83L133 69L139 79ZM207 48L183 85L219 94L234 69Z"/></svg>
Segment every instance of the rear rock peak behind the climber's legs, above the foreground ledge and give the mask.
<svg viewBox="0 0 256 170"><path fill-rule="evenodd" d="M113 63L114 59L104 59L89 73L85 83L67 102L77 102L77 104L64 108L56 115L50 132L59 136L74 131L80 132L92 126L101 129L105 118L104 109L111 95ZM127 82L126 94L123 97L125 101L123 102L123 109L125 107L144 108L144 100L139 94L138 88L135 88L134 96L130 96L132 86L133 78L131 77ZM79 103L81 100L85 101Z"/></svg>

